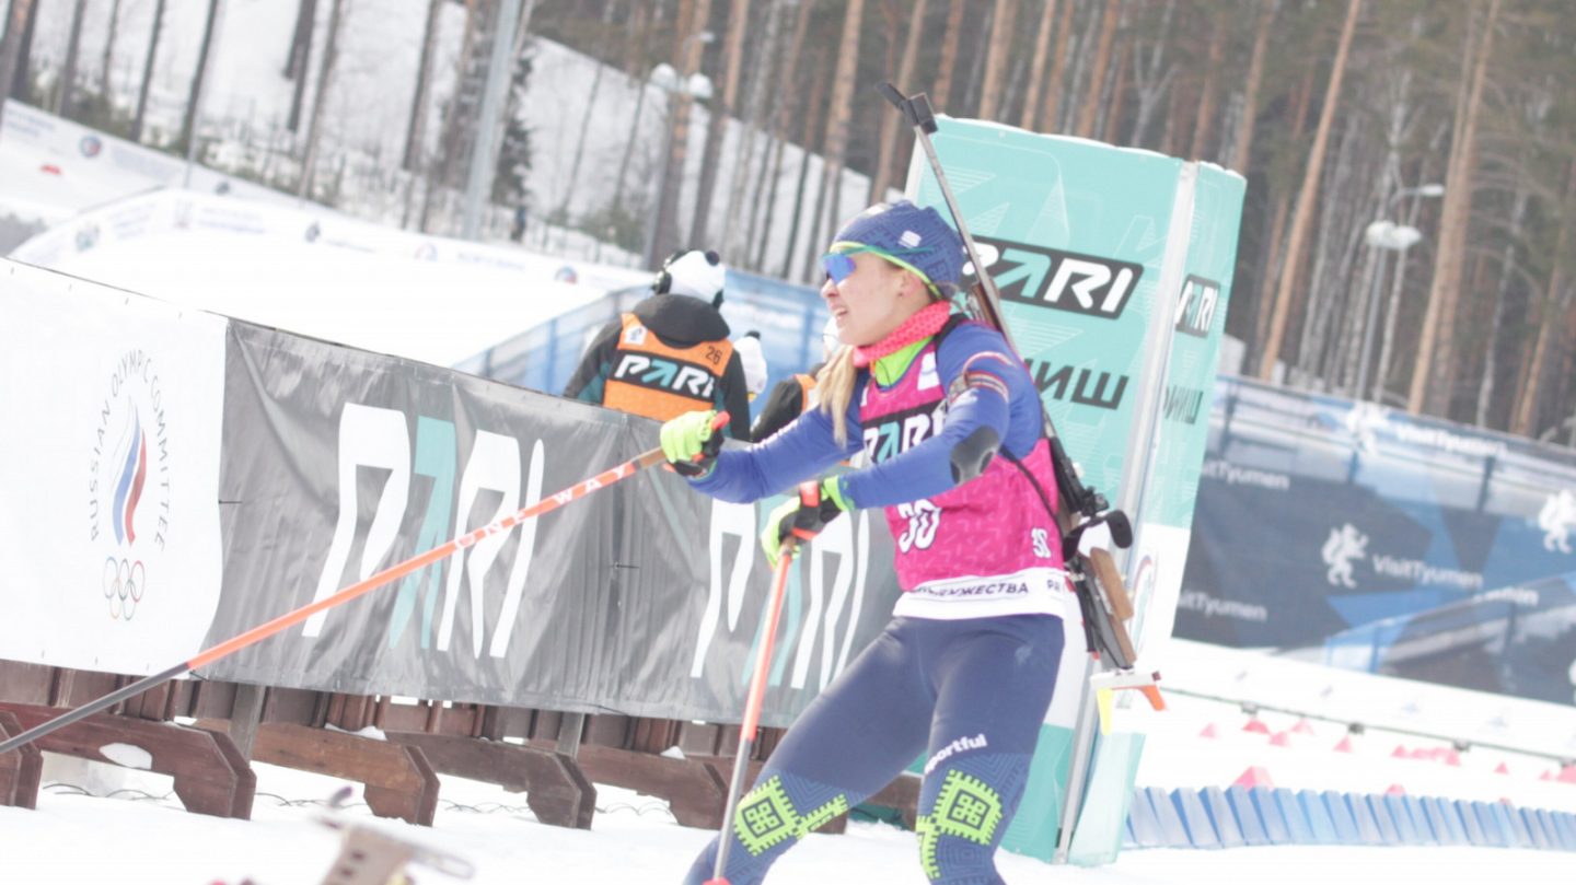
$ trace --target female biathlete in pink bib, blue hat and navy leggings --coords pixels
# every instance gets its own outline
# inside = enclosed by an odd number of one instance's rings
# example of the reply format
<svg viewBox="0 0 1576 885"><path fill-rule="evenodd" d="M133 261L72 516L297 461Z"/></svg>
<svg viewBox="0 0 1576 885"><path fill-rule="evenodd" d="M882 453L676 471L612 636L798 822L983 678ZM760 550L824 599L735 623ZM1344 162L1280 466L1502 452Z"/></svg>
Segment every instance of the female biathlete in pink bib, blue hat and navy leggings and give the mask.
<svg viewBox="0 0 1576 885"><path fill-rule="evenodd" d="M886 630L805 709L728 827L731 885L761 882L801 836L925 754L920 865L931 882L1001 882L994 854L1023 795L1076 600L1062 572L1040 400L994 329L950 294L963 244L903 200L851 220L823 257L821 296L845 345L821 403L774 438L717 454L712 413L662 427L693 487L747 502L821 476L769 518L774 564L854 507L884 507L903 589ZM998 457L999 455L999 457ZM687 882L711 879L717 841Z"/></svg>

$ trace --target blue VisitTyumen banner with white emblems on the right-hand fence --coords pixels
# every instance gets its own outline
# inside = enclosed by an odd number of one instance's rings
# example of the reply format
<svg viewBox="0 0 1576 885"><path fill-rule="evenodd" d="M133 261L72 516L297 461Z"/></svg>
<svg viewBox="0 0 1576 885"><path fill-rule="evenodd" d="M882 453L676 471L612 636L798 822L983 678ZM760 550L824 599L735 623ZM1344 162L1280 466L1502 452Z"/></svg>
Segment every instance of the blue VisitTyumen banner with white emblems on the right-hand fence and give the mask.
<svg viewBox="0 0 1576 885"><path fill-rule="evenodd" d="M1576 450L1223 378L1198 524L1177 636L1576 699Z"/></svg>

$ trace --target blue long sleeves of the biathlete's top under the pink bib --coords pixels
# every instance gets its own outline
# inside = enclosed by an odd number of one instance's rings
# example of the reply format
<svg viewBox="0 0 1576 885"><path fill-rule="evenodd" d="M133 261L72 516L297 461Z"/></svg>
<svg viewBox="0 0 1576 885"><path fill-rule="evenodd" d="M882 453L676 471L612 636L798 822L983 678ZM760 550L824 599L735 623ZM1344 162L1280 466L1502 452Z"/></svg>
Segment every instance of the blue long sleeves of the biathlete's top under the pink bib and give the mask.
<svg viewBox="0 0 1576 885"><path fill-rule="evenodd" d="M917 365L909 365L906 372L917 370ZM1001 332L977 323L952 329L936 351L936 372L950 398L946 425L941 433L894 458L843 474L843 496L856 507L903 504L953 488L952 449L980 427L994 430L1002 449L1015 458L1028 457L1039 441L1039 392ZM955 384L965 372L968 378ZM860 389L873 383L868 372L859 373L848 406L846 444L837 442L827 413L810 409L764 442L722 452L709 474L692 480L695 488L723 501L747 502L821 476L859 452Z"/></svg>

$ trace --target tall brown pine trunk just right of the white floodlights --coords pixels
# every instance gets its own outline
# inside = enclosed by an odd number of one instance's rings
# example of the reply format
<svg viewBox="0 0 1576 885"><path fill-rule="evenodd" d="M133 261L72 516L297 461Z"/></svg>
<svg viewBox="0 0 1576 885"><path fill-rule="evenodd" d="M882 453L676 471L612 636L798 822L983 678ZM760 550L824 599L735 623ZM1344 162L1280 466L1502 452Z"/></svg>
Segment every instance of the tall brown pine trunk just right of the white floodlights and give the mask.
<svg viewBox="0 0 1576 885"><path fill-rule="evenodd" d="M1472 178L1477 165L1478 109L1488 80L1488 58L1494 44L1499 0L1489 0L1478 43L1469 54L1470 88L1456 107L1459 137L1450 145L1450 172L1445 175L1445 203L1440 208L1439 250L1434 255L1434 285L1428 293L1422 339L1412 367L1407 411L1450 416L1455 400L1456 301L1461 296L1461 269L1466 261L1467 225L1472 216Z"/></svg>

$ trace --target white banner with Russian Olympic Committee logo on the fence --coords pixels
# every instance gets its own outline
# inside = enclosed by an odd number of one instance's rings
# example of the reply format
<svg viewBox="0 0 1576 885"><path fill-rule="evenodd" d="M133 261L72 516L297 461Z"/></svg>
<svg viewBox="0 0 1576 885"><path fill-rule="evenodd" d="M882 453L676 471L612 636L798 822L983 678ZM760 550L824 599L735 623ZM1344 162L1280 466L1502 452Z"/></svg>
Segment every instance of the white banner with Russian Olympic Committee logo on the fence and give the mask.
<svg viewBox="0 0 1576 885"><path fill-rule="evenodd" d="M148 674L202 649L225 324L0 261L0 658Z"/></svg>

